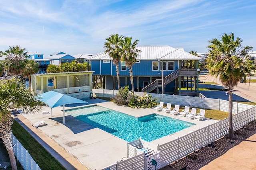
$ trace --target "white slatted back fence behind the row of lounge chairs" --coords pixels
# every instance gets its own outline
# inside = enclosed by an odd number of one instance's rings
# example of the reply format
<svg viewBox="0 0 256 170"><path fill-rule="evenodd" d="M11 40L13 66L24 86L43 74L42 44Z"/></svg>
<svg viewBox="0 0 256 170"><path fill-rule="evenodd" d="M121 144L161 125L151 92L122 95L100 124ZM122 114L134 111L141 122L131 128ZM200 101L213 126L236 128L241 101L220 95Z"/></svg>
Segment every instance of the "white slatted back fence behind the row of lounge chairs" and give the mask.
<svg viewBox="0 0 256 170"><path fill-rule="evenodd" d="M94 93L98 97L113 98L116 96L118 90L106 90L106 89L93 89ZM143 96L142 92L134 92L137 96ZM152 96L152 98L157 98L156 102L164 102L178 104L180 106L190 106L197 107L202 109L214 109L228 112L228 101L221 99L212 99L212 98L198 98L191 96L178 96L178 95L168 95L168 94L155 94L147 93ZM241 104L238 102L233 102L233 111L232 113L240 113L246 109L254 107L249 104Z"/></svg>

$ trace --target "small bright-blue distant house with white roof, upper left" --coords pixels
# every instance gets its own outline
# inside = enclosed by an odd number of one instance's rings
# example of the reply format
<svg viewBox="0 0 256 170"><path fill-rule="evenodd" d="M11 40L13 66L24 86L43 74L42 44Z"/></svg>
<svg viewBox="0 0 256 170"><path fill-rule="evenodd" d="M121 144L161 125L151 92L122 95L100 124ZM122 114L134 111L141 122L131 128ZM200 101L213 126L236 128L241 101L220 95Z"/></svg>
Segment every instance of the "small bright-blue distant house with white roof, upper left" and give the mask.
<svg viewBox="0 0 256 170"><path fill-rule="evenodd" d="M28 52L27 55L30 56L30 60L34 60L38 63L38 73L46 73L47 67L52 61L51 59L44 59L44 54L38 52Z"/></svg>

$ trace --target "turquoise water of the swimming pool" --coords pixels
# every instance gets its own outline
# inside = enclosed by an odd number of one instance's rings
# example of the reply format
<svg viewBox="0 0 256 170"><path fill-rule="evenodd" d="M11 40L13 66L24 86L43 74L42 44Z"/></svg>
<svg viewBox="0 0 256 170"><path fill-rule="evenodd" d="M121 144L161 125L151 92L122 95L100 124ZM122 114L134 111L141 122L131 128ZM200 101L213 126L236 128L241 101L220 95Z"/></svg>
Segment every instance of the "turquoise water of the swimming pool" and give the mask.
<svg viewBox="0 0 256 170"><path fill-rule="evenodd" d="M157 114L137 118L101 106L71 109L66 113L128 142L140 137L154 141L194 125Z"/></svg>

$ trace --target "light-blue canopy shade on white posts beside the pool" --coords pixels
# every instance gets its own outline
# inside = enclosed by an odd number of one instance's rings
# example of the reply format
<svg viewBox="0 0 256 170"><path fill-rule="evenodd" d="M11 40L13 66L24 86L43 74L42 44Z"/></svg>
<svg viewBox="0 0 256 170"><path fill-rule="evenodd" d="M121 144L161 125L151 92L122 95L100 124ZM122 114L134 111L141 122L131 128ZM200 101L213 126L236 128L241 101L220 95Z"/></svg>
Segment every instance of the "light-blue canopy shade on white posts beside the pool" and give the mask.
<svg viewBox="0 0 256 170"><path fill-rule="evenodd" d="M73 98L71 96L61 94L54 91L49 91L36 96L38 100L46 103L51 109L52 107L63 106L63 123L65 123L65 105L76 103L88 103L83 100ZM52 114L52 113L51 113Z"/></svg>

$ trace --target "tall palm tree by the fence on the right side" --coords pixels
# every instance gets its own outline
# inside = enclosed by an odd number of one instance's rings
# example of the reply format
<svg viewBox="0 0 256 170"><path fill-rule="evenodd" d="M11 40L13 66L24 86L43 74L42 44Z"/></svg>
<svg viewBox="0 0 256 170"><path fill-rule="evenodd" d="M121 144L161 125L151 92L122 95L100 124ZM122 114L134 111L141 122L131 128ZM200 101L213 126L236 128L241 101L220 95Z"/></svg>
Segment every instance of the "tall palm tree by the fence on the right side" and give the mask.
<svg viewBox="0 0 256 170"><path fill-rule="evenodd" d="M220 77L220 82L228 89L229 103L229 138L235 139L233 131L232 109L233 109L233 90L238 82L250 71L245 55L245 51L252 47L242 47L242 39L234 39L234 33L220 36L220 40L214 38L209 41L209 56L207 68L210 74Z"/></svg>

